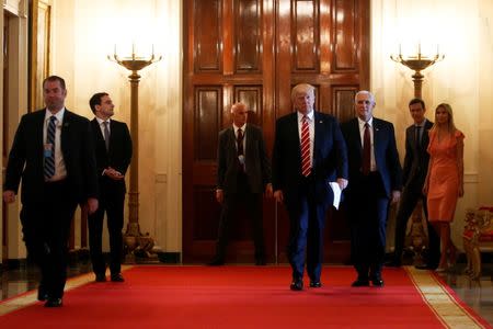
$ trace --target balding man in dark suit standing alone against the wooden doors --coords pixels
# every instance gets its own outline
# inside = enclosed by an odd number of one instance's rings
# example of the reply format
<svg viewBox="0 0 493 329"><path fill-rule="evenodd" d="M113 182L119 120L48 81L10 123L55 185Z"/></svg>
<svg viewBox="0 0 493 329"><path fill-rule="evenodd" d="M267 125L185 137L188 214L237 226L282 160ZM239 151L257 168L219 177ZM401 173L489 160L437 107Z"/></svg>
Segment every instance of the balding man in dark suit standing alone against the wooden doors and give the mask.
<svg viewBox="0 0 493 329"><path fill-rule="evenodd" d="M265 190L265 194L272 196L271 163L261 128L246 124L246 105L233 104L231 115L232 126L219 133L216 200L222 204L222 209L216 256L209 265L225 263L229 227L241 202L253 224L255 264L265 265L262 193Z"/></svg>

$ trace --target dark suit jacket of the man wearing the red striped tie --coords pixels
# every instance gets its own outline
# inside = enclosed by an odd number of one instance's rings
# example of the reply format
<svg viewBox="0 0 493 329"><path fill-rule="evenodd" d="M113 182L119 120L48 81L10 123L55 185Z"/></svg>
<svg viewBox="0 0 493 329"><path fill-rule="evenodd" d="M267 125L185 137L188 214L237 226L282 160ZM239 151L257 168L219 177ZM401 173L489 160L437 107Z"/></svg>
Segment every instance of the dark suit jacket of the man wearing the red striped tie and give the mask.
<svg viewBox="0 0 493 329"><path fill-rule="evenodd" d="M347 152L335 117L314 112L314 144L312 175L316 195L321 203L332 203L329 182L347 179ZM301 175L301 149L297 112L279 117L273 150L274 191L282 190L285 201L297 202Z"/></svg>

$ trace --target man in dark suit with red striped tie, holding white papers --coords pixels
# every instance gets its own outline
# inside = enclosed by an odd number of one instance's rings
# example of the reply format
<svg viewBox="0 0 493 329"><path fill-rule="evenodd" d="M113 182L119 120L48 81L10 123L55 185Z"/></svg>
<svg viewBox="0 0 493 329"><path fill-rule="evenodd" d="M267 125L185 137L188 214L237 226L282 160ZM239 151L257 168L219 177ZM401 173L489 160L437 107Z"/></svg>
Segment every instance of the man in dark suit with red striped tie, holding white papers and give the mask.
<svg viewBox="0 0 493 329"><path fill-rule="evenodd" d="M310 287L320 287L325 212L333 203L330 182L347 185L347 154L335 117L314 111L314 87L291 90L295 113L279 117L273 150L274 197L289 215L287 254L290 288L303 288L305 249Z"/></svg>

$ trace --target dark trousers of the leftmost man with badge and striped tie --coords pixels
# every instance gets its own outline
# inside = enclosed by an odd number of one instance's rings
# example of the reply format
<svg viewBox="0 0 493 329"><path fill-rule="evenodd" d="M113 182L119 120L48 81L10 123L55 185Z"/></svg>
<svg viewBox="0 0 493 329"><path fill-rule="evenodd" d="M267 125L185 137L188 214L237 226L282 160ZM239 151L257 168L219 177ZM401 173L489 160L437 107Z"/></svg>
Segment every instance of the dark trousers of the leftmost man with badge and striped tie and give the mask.
<svg viewBox="0 0 493 329"><path fill-rule="evenodd" d="M67 281L70 226L77 202L67 182L45 183L39 201L23 204L22 232L27 256L39 268L39 286L51 298L61 298Z"/></svg>

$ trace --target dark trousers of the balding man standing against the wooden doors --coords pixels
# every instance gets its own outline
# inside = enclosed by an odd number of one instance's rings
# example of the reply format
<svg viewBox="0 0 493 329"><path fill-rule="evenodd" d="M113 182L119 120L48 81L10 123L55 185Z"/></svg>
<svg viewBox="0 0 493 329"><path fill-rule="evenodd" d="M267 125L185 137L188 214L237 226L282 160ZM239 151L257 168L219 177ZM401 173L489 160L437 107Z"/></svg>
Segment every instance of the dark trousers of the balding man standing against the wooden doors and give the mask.
<svg viewBox="0 0 493 329"><path fill-rule="evenodd" d="M262 194L252 193L244 173L238 174L237 192L225 191L221 215L219 218L218 237L216 243L216 258L226 258L226 248L229 242L231 223L234 220L240 203L244 204L246 215L253 226L253 242L255 245L255 259L265 258L264 227L262 216Z"/></svg>

